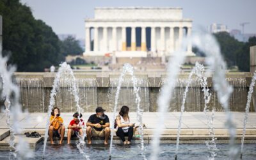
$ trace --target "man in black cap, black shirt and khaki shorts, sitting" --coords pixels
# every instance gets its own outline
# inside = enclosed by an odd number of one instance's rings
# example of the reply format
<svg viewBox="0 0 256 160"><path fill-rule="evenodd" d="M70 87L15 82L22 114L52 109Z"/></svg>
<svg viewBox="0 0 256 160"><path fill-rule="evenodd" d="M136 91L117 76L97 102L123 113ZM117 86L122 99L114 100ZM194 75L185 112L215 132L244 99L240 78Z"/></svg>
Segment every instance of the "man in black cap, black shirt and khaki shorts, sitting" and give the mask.
<svg viewBox="0 0 256 160"><path fill-rule="evenodd" d="M86 123L86 136L88 144L92 143L93 137L104 137L104 144L108 145L108 138L110 135L109 118L104 114L105 109L102 107L96 108L96 114L89 117Z"/></svg>

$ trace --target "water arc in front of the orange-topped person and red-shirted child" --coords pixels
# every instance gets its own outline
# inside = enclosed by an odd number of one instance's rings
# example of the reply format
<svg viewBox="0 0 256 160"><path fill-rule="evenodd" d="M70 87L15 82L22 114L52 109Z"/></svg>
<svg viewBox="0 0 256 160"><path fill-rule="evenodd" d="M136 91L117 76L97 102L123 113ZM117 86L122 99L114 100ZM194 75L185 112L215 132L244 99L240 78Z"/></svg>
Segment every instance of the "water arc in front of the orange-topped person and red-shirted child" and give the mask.
<svg viewBox="0 0 256 160"><path fill-rule="evenodd" d="M64 77L64 79L61 79L61 77ZM71 86L72 86L71 93L72 93L72 95L74 95L74 100L76 102L77 112L80 115L80 113L82 111L81 107L79 106L79 97L78 97L78 93L77 93L76 78L74 77L74 73L73 73L72 69L70 68L70 65L68 65L66 62L64 62L60 65L60 68L59 68L59 70L56 74L56 77L55 77L53 85L52 85L50 104L49 104L49 108L48 108L47 125L45 127L43 156L45 154L45 148L46 148L46 144L47 144L51 111L52 111L52 108L55 104L55 98L56 98L56 95L58 93L58 90L60 90L61 80L63 80L63 84L71 84ZM80 120L80 116L78 116L78 119L79 119L79 125L82 125L81 120ZM83 136L77 135L77 137L79 138L79 143L77 143L77 148L79 149L79 152L81 154L83 154L84 158L89 159L89 156L87 156L83 152L83 147L84 147L84 144L85 144L85 142L84 142L85 135L83 135Z"/></svg>

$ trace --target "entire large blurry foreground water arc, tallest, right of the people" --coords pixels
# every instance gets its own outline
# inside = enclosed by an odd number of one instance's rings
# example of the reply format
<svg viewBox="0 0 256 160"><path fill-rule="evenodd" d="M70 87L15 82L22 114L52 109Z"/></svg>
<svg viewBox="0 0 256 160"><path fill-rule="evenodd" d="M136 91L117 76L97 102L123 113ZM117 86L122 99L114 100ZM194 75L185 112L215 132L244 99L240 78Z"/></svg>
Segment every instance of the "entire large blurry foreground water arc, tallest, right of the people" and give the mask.
<svg viewBox="0 0 256 160"><path fill-rule="evenodd" d="M180 52L175 52L172 59L168 63L168 81L163 85L159 99L157 100L157 104L159 106L158 111L160 112L161 116L159 117L159 125L157 125L154 132L154 139L152 142L153 152L150 158L157 159L157 153L159 152L159 137L163 131L164 118L167 108L170 105L171 97L173 96L172 92L175 86L175 79L177 77L177 74L179 73L179 67L184 61L184 53L188 44L192 44L200 51L204 52L207 56L205 58L207 65L209 65L211 70L214 70L212 77L214 83L214 90L216 90L216 92L218 93L218 100L225 109L227 118L225 124L230 133L230 159L236 159L238 155L238 150L234 146L236 127L232 122L232 114L230 113L230 109L228 106L228 100L230 94L232 93L232 86L230 86L227 81L225 81L226 64L221 56L220 47L216 42L216 39L209 33L203 32L196 33L188 39L185 39L182 42Z"/></svg>

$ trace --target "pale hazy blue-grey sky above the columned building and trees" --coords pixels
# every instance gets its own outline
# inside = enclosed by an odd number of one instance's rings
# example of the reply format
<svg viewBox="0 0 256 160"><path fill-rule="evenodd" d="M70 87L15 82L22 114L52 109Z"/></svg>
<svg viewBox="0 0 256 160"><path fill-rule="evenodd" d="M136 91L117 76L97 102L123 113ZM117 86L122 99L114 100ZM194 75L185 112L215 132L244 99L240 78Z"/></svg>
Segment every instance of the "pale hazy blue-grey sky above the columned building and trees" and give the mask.
<svg viewBox="0 0 256 160"><path fill-rule="evenodd" d="M256 33L256 0L21 0L31 7L36 19L42 19L57 34L75 34L84 38L84 19L94 16L97 6L170 6L182 7L183 17L193 19L193 26L214 22L228 29L241 29L250 22L245 33Z"/></svg>

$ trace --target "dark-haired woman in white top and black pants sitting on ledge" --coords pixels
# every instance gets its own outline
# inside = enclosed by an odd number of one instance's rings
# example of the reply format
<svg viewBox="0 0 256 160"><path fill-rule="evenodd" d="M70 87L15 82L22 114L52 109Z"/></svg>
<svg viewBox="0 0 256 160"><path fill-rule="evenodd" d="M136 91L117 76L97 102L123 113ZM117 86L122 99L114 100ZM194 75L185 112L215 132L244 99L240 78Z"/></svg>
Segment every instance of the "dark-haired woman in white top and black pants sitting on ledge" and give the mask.
<svg viewBox="0 0 256 160"><path fill-rule="evenodd" d="M134 124L130 123L129 118L129 108L127 106L122 106L119 115L116 116L116 136L120 137L124 144L130 144L133 136ZM125 141L125 136L128 136L128 141Z"/></svg>

